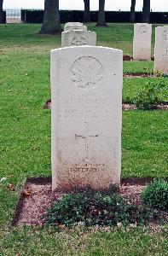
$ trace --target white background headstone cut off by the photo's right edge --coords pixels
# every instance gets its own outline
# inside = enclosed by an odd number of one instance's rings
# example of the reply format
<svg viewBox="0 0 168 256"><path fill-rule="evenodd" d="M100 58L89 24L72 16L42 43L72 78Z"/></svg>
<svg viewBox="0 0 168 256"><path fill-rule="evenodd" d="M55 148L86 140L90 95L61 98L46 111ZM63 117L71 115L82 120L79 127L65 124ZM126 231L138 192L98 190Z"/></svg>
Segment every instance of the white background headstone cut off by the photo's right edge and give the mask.
<svg viewBox="0 0 168 256"><path fill-rule="evenodd" d="M155 28L154 73L168 74L168 26Z"/></svg>

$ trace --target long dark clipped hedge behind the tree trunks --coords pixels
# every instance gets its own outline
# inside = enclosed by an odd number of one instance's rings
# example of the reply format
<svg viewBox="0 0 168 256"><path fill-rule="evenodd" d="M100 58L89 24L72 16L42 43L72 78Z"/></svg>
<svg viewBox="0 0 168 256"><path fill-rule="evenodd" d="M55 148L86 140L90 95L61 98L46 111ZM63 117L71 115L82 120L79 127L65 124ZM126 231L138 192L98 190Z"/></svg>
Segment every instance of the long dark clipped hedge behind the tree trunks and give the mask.
<svg viewBox="0 0 168 256"><path fill-rule="evenodd" d="M82 10L60 10L61 23L82 22L84 11ZM97 21L97 11L91 11L92 22ZM21 9L21 20L27 23L43 23L43 10ZM136 22L141 22L142 12L136 12ZM106 11L106 21L110 22L130 22L130 12ZM168 12L152 12L150 15L151 23L168 23Z"/></svg>

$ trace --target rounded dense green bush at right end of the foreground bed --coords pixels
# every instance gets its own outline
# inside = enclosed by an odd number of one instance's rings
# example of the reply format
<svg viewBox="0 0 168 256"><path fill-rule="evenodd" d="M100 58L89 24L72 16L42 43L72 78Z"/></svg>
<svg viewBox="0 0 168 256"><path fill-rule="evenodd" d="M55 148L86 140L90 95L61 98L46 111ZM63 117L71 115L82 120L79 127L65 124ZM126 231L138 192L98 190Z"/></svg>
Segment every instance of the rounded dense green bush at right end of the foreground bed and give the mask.
<svg viewBox="0 0 168 256"><path fill-rule="evenodd" d="M168 210L168 182L155 179L142 191L142 201L149 207Z"/></svg>

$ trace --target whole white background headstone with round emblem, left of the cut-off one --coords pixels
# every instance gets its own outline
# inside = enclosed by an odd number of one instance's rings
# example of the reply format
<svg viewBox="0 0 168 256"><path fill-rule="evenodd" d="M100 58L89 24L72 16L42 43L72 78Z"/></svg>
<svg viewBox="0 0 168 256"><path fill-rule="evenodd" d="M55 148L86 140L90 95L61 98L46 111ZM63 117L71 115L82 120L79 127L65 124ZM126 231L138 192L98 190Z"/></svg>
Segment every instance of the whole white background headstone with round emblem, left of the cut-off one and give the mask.
<svg viewBox="0 0 168 256"><path fill-rule="evenodd" d="M151 60L152 24L134 24L133 59Z"/></svg>

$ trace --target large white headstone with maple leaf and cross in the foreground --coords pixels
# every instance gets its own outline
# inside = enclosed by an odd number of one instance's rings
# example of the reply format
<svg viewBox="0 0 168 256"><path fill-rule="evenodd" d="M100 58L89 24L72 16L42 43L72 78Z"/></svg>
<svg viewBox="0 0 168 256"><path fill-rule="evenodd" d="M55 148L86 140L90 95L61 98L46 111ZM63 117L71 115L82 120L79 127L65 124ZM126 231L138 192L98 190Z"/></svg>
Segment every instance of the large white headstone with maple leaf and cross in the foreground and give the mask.
<svg viewBox="0 0 168 256"><path fill-rule="evenodd" d="M120 182L122 84L121 50L51 50L53 190Z"/></svg>

